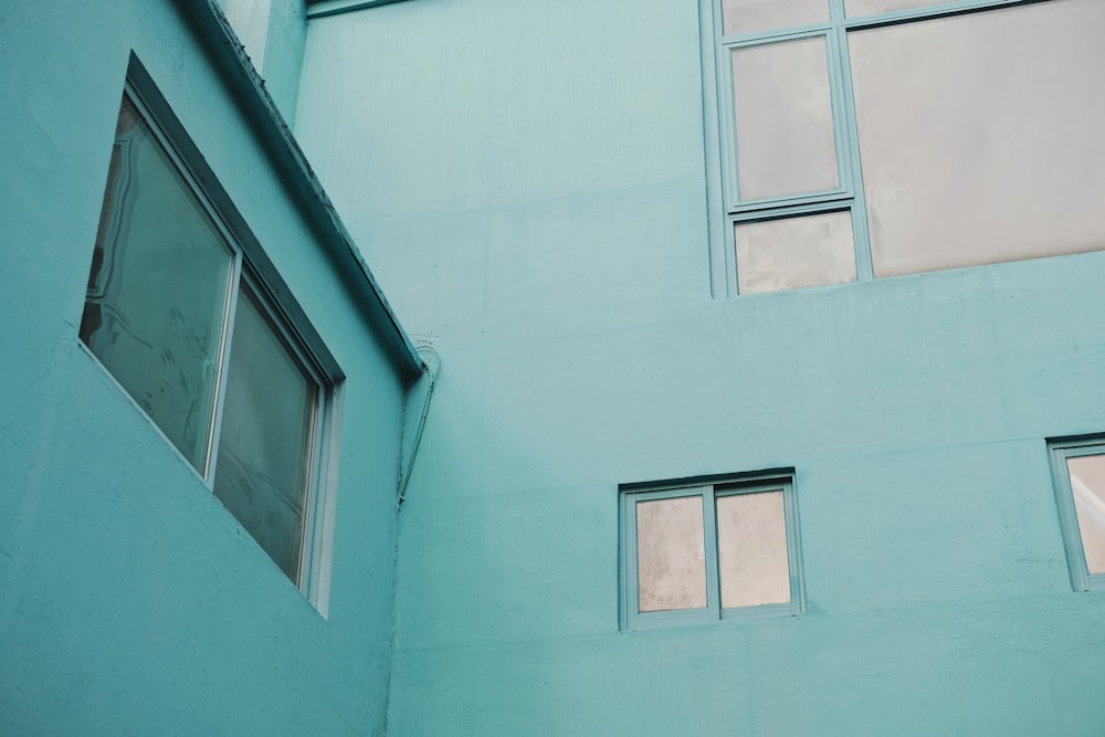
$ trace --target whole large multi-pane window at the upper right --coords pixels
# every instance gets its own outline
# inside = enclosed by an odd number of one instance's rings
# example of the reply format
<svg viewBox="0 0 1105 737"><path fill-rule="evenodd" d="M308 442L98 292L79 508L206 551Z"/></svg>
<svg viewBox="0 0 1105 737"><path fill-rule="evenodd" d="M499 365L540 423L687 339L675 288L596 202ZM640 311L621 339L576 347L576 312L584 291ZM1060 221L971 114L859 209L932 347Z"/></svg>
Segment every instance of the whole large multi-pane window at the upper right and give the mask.
<svg viewBox="0 0 1105 737"><path fill-rule="evenodd" d="M1105 249L1099 0L702 0L702 28L716 295Z"/></svg>

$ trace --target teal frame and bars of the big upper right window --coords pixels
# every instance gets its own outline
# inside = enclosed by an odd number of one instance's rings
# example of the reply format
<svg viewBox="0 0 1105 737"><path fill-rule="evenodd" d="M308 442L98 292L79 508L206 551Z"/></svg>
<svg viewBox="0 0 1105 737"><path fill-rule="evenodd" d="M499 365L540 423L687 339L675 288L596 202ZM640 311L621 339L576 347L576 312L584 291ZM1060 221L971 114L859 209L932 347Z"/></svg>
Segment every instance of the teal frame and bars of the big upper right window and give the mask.
<svg viewBox="0 0 1105 737"><path fill-rule="evenodd" d="M709 285L714 297L738 295L735 242L735 229L738 224L781 220L801 214L849 212L852 220L856 281L870 282L875 278L871 261L866 200L860 166L860 141L855 125L855 99L848 50L850 31L1050 0L953 0L852 18L845 15L844 1L825 0L829 6L829 20L821 23L724 35L722 0L699 0ZM840 187L823 192L741 201L737 196L738 150L729 55L735 49L821 36L827 41Z"/></svg>

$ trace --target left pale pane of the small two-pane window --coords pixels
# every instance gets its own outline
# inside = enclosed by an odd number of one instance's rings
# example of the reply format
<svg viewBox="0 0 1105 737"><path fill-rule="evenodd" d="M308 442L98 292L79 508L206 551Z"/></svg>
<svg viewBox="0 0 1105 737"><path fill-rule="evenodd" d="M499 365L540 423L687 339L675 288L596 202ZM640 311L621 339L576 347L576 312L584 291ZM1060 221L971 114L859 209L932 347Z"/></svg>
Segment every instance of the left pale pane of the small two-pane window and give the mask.
<svg viewBox="0 0 1105 737"><path fill-rule="evenodd" d="M642 612L706 606L702 497L636 503L638 603Z"/></svg>

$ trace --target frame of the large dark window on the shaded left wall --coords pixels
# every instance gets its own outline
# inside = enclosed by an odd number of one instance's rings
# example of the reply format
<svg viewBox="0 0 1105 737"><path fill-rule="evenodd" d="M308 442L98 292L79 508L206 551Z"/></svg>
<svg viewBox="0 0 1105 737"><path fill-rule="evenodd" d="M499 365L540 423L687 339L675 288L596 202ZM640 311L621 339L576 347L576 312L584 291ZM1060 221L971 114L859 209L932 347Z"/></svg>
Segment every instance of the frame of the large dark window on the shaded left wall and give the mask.
<svg viewBox="0 0 1105 737"><path fill-rule="evenodd" d="M231 267L228 270L225 308L222 315L223 323L218 348L218 369L213 377L214 408L208 428L208 451L203 467L197 467L177 448L83 339L78 338L77 344L119 389L127 401L140 412L154 431L160 434L170 451L177 454L207 487L207 491L214 496L214 477L218 470L220 432L238 301L243 291L249 291L267 327L283 345L290 358L302 369L305 378L316 388L312 427L307 432L309 448L306 451L305 466L308 477L304 488L304 519L298 540L299 555L296 578L293 580L286 577L269 552L230 514L229 509L227 509L227 514L234 519L235 524L242 526L246 537L253 540L264 558L276 570L281 571L281 577L290 580L312 606L325 615L329 589L329 562L326 555L329 545L326 538L329 537L333 526L329 519L334 503L337 424L340 414L340 397L344 393L345 373L307 319L302 306L292 295L287 284L234 207L229 194L220 185L206 158L200 154L148 72L133 53L122 93L120 106L122 101L128 101L134 106L148 128L151 139L161 147L169 165L180 175L182 185L200 204L232 257ZM85 308L85 304L82 302L82 310Z"/></svg>

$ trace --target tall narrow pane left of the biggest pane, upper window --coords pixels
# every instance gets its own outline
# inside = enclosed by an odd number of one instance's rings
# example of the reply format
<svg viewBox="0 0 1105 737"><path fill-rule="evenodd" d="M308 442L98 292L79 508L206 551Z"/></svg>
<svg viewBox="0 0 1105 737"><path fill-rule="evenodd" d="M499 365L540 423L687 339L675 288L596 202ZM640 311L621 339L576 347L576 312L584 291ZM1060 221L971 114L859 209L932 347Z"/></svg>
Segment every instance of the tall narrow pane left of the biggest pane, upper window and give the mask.
<svg viewBox="0 0 1105 737"><path fill-rule="evenodd" d="M840 185L827 60L824 38L733 52L741 200Z"/></svg>

